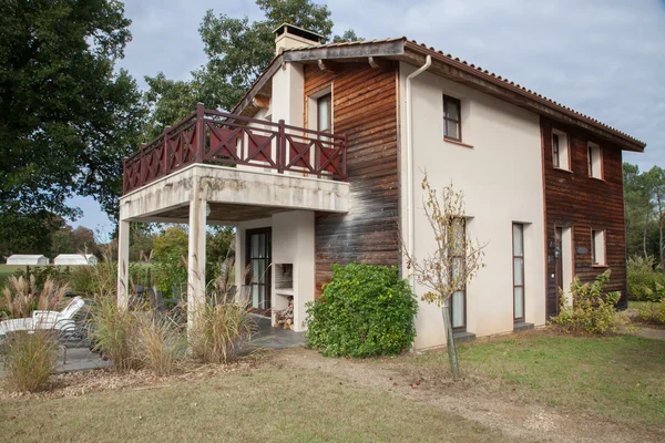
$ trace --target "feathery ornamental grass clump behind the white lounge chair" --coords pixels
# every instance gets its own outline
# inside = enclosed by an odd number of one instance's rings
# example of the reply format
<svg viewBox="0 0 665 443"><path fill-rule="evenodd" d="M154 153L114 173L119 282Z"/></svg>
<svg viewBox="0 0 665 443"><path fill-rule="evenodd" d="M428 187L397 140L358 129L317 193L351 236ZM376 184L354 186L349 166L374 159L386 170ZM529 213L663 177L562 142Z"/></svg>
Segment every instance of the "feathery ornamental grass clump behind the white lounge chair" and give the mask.
<svg viewBox="0 0 665 443"><path fill-rule="evenodd" d="M58 310L69 290L66 285L59 285L47 277L39 288L35 277L29 278L10 276L2 289L0 310L9 318L28 318L34 310Z"/></svg>

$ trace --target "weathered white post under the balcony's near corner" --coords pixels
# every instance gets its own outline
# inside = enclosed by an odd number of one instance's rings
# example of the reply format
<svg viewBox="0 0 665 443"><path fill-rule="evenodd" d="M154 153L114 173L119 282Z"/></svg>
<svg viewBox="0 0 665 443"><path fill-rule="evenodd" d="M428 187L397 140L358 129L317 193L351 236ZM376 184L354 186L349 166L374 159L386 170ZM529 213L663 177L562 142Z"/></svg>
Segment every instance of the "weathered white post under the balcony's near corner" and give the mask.
<svg viewBox="0 0 665 443"><path fill-rule="evenodd" d="M206 197L197 183L190 202L190 253L187 257L187 330L205 303Z"/></svg>

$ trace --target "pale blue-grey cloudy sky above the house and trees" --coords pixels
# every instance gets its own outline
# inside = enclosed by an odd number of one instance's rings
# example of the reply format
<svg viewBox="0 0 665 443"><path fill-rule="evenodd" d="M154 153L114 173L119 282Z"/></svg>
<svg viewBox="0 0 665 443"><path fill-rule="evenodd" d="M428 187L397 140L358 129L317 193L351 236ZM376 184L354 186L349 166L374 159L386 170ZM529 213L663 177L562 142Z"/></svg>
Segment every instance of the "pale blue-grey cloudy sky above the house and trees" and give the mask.
<svg viewBox="0 0 665 443"><path fill-rule="evenodd" d="M332 0L335 33L406 35L481 65L644 142L624 159L665 166L665 0ZM186 80L205 62L198 25L206 10L260 19L252 0L126 0L133 41L120 66L143 78ZM369 13L371 12L371 13ZM111 223L75 198L83 225Z"/></svg>

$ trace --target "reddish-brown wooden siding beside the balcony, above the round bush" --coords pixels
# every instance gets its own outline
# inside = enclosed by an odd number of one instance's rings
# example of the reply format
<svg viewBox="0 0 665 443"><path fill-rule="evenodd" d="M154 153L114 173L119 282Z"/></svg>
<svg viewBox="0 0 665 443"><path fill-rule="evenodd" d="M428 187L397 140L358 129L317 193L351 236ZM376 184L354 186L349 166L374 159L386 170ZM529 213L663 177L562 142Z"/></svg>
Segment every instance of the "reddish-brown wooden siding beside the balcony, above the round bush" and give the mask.
<svg viewBox="0 0 665 443"><path fill-rule="evenodd" d="M305 121L308 96L331 85L332 131L348 137L351 209L316 215L317 296L330 280L332 264L399 264L397 64L336 68L305 66Z"/></svg>

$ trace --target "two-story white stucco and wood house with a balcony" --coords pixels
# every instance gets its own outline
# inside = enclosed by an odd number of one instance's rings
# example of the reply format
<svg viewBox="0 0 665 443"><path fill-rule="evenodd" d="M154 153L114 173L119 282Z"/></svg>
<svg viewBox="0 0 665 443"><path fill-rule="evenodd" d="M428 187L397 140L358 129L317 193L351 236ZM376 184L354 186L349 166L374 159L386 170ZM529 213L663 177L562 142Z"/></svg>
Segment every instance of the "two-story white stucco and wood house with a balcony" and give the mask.
<svg viewBox="0 0 665 443"><path fill-rule="evenodd" d="M200 105L125 161L121 303L130 222L190 225L192 311L205 297L205 226L233 225L254 307L293 298L300 330L332 264L407 278L400 243L431 251L426 171L463 190L464 231L487 244L487 267L452 299L460 337L544 324L574 275L610 267L625 295L621 158L644 143L405 38L320 41L279 27L275 59L231 113ZM417 348L446 342L438 308L421 302L416 321Z"/></svg>

